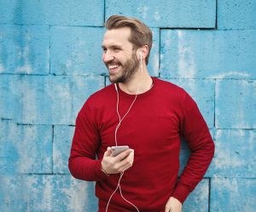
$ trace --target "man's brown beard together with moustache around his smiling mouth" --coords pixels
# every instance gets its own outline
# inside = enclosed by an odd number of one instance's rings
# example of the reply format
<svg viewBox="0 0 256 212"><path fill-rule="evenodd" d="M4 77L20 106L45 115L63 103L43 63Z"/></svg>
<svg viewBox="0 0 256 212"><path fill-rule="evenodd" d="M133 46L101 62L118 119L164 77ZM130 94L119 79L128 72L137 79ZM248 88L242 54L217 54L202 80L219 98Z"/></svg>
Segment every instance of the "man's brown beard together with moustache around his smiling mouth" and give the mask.
<svg viewBox="0 0 256 212"><path fill-rule="evenodd" d="M120 73L111 74L109 72L109 81L111 83L126 83L131 81L132 77L134 77L134 74L137 72L139 60L137 60L137 54L132 53L131 59L126 60L124 64L120 64L114 60L111 63L106 64L106 66L108 67L109 64L119 64L122 68Z"/></svg>

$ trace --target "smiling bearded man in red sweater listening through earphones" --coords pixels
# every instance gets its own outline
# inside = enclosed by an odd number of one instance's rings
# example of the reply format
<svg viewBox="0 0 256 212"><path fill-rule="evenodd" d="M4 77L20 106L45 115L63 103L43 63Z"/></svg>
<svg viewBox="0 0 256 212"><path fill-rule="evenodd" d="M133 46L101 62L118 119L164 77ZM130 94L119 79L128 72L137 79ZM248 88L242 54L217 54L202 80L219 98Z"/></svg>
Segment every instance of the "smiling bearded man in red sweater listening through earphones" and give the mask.
<svg viewBox="0 0 256 212"><path fill-rule="evenodd" d="M180 212L213 157L207 124L183 89L149 76L148 26L119 15L105 26L102 60L112 84L79 112L70 172L96 181L100 212ZM177 180L181 135L191 154ZM130 148L113 156L109 146Z"/></svg>

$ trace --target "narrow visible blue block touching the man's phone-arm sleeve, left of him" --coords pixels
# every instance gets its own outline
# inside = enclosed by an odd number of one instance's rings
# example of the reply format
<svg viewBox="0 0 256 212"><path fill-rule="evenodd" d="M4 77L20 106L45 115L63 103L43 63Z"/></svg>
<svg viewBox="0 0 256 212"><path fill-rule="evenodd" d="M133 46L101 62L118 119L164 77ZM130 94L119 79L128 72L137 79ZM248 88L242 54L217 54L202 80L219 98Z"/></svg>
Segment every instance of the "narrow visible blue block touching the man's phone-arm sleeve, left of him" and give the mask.
<svg viewBox="0 0 256 212"><path fill-rule="evenodd" d="M54 173L69 174L68 158L73 140L74 127L56 125L54 128Z"/></svg>

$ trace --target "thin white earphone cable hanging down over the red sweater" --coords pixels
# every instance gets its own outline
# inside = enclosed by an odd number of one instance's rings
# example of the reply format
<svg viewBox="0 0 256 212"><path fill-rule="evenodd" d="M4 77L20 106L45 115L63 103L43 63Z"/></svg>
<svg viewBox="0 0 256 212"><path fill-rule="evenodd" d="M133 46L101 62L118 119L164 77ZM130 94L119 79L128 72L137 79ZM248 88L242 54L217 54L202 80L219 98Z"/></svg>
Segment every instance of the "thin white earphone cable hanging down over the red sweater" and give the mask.
<svg viewBox="0 0 256 212"><path fill-rule="evenodd" d="M142 54L141 54L141 77L143 76L143 60L142 60ZM131 107L133 106L134 102L137 100L137 95L138 95L138 90L141 86L141 82L138 84L137 86L137 92L136 92L136 96L134 98L134 100L131 102L131 106L129 107L128 111L125 112L125 115L121 118L120 117L120 114L119 114L119 91L117 89L117 86L116 84L114 85L115 86L115 89L116 89L116 92L117 92L117 103L116 103L116 112L119 116L119 123L118 125L116 126L115 128L115 131L114 131L114 140L115 140L115 146L118 146L117 145L117 131L121 125L121 122L124 120L124 118L127 116L127 114L130 112L131 110ZM108 199L108 203L107 203L107 207L106 207L106 212L108 212L108 205L110 203L110 200L112 199L113 197L113 194L119 189L119 192L120 192L120 195L121 197L127 202L127 203L130 203L135 209L137 209L137 206L134 204L134 203L131 203L130 201L128 201L126 198L124 198L123 196L123 193L122 193L122 189L121 189L121 186L120 186L120 182L121 182L121 179L123 177L123 175L125 174L125 171L121 172L120 173L120 177L119 177L119 182L118 182L118 185L116 186L115 190L113 191L113 193L111 194L110 198ZM137 212L140 212L139 209L137 209Z"/></svg>

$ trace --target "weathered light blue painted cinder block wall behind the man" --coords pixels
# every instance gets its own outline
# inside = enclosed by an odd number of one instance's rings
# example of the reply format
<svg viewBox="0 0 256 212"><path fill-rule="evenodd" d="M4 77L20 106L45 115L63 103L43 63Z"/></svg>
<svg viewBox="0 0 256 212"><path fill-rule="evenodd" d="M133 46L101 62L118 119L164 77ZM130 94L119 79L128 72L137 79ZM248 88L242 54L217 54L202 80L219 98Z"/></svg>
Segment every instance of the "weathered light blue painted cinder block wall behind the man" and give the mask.
<svg viewBox="0 0 256 212"><path fill-rule="evenodd" d="M216 144L187 212L256 211L256 1L0 0L0 211L96 211L67 169L74 122L108 82L104 20L154 32L148 69L196 100ZM181 169L189 157L183 142Z"/></svg>

